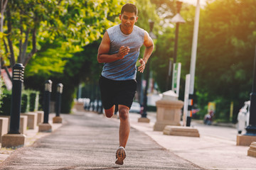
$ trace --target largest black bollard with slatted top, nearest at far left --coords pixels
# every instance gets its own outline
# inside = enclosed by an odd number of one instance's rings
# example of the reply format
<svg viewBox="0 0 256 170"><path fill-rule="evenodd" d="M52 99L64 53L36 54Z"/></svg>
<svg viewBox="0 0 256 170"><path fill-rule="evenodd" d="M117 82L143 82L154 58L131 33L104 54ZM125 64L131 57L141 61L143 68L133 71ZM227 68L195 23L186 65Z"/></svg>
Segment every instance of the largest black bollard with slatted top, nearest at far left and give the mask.
<svg viewBox="0 0 256 170"><path fill-rule="evenodd" d="M21 87L24 75L23 64L15 64L13 67L12 77L12 94L11 94L11 121L9 134L21 134L19 132L20 115L21 115Z"/></svg>

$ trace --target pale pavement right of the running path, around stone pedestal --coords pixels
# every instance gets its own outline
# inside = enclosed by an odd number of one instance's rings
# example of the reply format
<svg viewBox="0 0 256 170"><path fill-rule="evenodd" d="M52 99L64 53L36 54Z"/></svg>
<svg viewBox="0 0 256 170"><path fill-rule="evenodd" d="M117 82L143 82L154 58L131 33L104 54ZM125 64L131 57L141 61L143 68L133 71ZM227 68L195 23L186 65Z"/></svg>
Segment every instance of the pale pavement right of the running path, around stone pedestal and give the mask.
<svg viewBox="0 0 256 170"><path fill-rule="evenodd" d="M201 137L163 135L153 131L156 113L149 113L151 123L138 123L139 114L130 114L133 128L149 135L171 153L204 169L256 170L256 158L248 157L249 147L236 146L235 128L215 127L191 123Z"/></svg>

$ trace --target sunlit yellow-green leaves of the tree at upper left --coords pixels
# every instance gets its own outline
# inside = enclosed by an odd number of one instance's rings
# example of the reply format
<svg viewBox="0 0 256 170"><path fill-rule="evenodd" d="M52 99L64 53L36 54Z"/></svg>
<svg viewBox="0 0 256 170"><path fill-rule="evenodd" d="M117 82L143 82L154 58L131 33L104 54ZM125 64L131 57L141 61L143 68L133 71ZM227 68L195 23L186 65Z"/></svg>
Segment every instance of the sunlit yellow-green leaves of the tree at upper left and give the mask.
<svg viewBox="0 0 256 170"><path fill-rule="evenodd" d="M4 33L8 36L2 49L9 53L11 66L15 62L26 66L41 50L40 42L53 43L58 39L63 49L80 51L114 24L111 18L122 4L110 0L9 0L4 22Z"/></svg>

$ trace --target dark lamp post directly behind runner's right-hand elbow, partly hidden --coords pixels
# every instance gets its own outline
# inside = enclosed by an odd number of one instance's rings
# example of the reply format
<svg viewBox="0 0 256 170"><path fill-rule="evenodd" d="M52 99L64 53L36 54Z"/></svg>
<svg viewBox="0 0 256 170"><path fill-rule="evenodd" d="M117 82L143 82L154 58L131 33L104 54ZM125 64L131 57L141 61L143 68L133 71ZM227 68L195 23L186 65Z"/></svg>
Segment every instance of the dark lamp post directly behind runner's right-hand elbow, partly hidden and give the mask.
<svg viewBox="0 0 256 170"><path fill-rule="evenodd" d="M156 35L154 35L154 33L152 32L154 28L154 21L149 21L149 36L154 40L156 39ZM149 88L149 67L150 67L150 58L147 62L147 66L146 66L146 87L144 89L144 94L143 94L143 112L142 112L142 118L139 118L139 122L148 122L149 123L149 119L146 118L146 111L147 111L147 91Z"/></svg>

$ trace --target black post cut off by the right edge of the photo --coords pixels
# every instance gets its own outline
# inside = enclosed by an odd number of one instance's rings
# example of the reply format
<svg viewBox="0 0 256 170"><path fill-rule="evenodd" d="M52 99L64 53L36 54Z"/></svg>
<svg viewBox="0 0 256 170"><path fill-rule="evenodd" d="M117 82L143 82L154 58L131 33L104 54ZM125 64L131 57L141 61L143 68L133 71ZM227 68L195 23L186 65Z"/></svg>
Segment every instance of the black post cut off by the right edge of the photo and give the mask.
<svg viewBox="0 0 256 170"><path fill-rule="evenodd" d="M250 119L249 125L246 128L245 135L256 136L256 46L252 81L252 93L250 94Z"/></svg>

